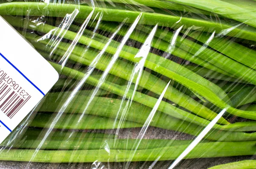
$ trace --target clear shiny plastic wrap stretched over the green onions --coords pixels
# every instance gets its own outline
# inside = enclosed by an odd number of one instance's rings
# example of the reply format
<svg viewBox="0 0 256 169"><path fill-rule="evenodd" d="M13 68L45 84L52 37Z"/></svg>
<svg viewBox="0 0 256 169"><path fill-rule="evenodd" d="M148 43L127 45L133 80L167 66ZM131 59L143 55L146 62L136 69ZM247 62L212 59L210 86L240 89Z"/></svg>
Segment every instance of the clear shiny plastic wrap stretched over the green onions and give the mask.
<svg viewBox="0 0 256 169"><path fill-rule="evenodd" d="M0 2L60 75L0 168L256 167L256 1Z"/></svg>

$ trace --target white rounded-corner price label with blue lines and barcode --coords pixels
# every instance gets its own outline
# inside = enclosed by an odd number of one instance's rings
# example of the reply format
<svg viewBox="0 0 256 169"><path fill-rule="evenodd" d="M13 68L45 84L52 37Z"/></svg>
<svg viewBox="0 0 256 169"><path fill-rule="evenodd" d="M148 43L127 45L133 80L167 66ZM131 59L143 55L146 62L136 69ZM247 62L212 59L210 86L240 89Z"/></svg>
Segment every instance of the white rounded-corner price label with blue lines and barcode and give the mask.
<svg viewBox="0 0 256 169"><path fill-rule="evenodd" d="M57 81L49 62L0 17L0 143Z"/></svg>

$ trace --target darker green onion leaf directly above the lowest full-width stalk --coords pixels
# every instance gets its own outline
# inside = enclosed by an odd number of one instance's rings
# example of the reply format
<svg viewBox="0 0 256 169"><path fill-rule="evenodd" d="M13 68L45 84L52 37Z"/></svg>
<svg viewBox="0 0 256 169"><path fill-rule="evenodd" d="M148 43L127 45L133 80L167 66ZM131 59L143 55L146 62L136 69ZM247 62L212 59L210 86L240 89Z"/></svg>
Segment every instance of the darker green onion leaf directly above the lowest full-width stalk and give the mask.
<svg viewBox="0 0 256 169"><path fill-rule="evenodd" d="M25 140L19 148L36 149L42 140ZM41 149L51 150L96 150L108 148L132 150L140 141L137 149L154 149L164 146L179 146L191 143L191 140L163 140L163 139L113 139L113 138L79 138L74 140L46 140ZM16 147L15 145L13 147Z"/></svg>

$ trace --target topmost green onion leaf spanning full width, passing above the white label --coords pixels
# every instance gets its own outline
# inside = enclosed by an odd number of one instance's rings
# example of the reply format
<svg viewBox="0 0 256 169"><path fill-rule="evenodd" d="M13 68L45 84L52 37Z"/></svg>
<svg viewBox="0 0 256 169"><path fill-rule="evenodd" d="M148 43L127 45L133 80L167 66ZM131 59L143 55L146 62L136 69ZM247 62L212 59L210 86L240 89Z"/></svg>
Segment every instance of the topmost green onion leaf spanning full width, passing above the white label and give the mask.
<svg viewBox="0 0 256 169"><path fill-rule="evenodd" d="M205 4L205 2L204 2ZM81 19L86 19L87 16L93 11L92 18L96 17L97 13L102 13L102 20L105 21L115 21L115 22L126 22L133 23L140 15L140 24L147 25L161 25L172 28L180 28L182 25L191 27L191 29L198 29L200 27L202 31L216 32L220 33L223 29L232 28L228 34L229 36L240 37L249 40L255 40L256 32L254 28L243 27L233 27L239 23L227 23L224 20L221 23L214 23L211 21L198 20L186 17L176 17L164 14L153 14L147 12L137 12L137 11L125 11L117 9L108 8L92 8L89 6L77 6L73 4L55 4L55 3L3 3L0 6L1 15L21 15L26 16L26 12L30 11L32 16L50 16L50 17L65 17L66 14L73 13L76 9L79 9L76 17ZM127 19L129 16L129 19ZM247 24L249 24L248 22Z"/></svg>

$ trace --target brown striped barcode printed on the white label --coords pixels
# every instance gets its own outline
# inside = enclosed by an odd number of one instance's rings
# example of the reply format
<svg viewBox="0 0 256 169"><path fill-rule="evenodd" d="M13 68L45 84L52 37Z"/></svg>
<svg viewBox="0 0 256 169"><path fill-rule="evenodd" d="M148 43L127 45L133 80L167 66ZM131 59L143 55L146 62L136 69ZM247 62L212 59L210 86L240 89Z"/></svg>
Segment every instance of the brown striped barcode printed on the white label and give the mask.
<svg viewBox="0 0 256 169"><path fill-rule="evenodd" d="M24 99L20 93L10 87L3 79L0 79L0 110L9 118L13 118L15 114L26 104L31 96Z"/></svg>

